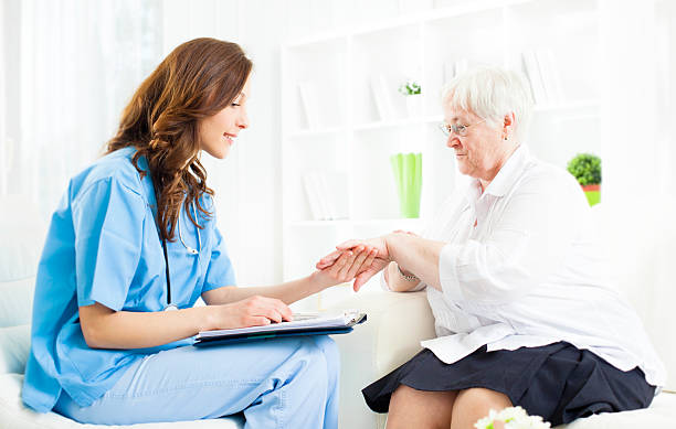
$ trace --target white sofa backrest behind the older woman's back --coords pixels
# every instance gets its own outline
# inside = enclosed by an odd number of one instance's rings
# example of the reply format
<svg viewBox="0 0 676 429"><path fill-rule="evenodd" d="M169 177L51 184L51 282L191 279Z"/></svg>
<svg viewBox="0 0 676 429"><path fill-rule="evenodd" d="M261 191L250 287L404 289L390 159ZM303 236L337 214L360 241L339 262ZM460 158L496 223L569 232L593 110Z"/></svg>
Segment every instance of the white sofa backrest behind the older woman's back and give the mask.
<svg viewBox="0 0 676 429"><path fill-rule="evenodd" d="M665 388L676 390L676 203L631 200L592 210L611 280L636 310L667 369ZM676 425L675 425L676 426Z"/></svg>

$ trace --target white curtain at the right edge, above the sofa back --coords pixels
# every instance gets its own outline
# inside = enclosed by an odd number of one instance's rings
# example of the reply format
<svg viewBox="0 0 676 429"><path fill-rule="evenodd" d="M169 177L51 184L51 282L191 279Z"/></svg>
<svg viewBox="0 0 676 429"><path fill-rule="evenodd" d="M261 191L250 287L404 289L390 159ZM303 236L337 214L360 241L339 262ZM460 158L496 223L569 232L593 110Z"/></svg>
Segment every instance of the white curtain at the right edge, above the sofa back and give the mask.
<svg viewBox="0 0 676 429"><path fill-rule="evenodd" d="M673 1L601 0L603 201L676 199Z"/></svg>

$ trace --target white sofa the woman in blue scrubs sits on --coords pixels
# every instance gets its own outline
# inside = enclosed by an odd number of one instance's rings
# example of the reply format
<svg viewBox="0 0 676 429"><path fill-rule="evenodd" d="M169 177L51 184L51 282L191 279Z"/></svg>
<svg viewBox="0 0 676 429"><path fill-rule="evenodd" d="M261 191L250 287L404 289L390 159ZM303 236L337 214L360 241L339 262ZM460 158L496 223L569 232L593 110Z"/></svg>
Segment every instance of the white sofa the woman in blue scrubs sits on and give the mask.
<svg viewBox="0 0 676 429"><path fill-rule="evenodd" d="M24 199L2 197L0 207L0 429L244 427L241 417L131 426L82 425L55 412L38 414L25 407L21 386L30 347L35 270L46 230L40 215Z"/></svg>

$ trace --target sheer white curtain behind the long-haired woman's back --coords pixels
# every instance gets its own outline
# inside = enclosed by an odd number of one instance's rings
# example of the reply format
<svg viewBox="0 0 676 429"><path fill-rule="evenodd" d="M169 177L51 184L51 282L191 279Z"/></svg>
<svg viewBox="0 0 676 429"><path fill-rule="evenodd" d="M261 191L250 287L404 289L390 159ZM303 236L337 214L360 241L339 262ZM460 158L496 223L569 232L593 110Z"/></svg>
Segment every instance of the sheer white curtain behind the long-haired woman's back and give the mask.
<svg viewBox="0 0 676 429"><path fill-rule="evenodd" d="M161 22L159 0L4 0L1 192L54 210L161 60Z"/></svg>

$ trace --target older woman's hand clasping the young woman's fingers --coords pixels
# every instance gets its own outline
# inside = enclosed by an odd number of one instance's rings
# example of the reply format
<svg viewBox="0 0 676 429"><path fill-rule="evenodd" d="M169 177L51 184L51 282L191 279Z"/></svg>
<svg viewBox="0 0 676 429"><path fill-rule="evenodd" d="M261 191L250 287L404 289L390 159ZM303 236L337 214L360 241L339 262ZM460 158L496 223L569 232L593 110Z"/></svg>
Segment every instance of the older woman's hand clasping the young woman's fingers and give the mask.
<svg viewBox="0 0 676 429"><path fill-rule="evenodd" d="M368 258L361 264L361 267L357 270L357 276L355 278L355 282L352 288L357 292L371 277L378 274L381 269L387 267L390 262L390 254L388 251L388 246L385 242L385 237L376 237L369 239L351 239L336 246L335 251L328 254L324 258L321 258L316 267L319 270L330 269L337 261L344 257L345 254L353 251L357 248L372 248L376 250L372 258Z"/></svg>

